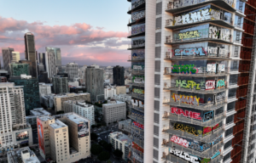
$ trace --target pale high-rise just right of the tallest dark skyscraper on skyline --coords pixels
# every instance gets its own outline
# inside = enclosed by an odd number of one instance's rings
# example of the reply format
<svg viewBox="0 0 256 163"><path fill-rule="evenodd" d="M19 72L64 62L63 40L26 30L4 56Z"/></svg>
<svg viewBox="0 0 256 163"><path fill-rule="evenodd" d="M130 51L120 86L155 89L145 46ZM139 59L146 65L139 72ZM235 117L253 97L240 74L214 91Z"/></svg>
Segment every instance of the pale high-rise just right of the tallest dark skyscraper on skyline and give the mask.
<svg viewBox="0 0 256 163"><path fill-rule="evenodd" d="M45 62L48 65L50 73L49 77L55 76L58 72L62 72L61 70L61 48L50 48L45 47ZM47 66L46 66L47 68ZM55 69L55 70L53 70ZM47 72L49 73L47 70Z"/></svg>

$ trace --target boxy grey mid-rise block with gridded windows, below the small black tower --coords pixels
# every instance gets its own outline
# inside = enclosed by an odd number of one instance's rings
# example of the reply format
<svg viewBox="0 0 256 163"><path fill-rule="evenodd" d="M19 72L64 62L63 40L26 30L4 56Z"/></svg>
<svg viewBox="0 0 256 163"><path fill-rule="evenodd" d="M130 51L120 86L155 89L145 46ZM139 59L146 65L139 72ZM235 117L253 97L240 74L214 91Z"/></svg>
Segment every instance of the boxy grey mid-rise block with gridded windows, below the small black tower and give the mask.
<svg viewBox="0 0 256 163"><path fill-rule="evenodd" d="M108 125L113 122L126 119L126 104L115 99L108 100L108 104L102 104L104 122Z"/></svg>

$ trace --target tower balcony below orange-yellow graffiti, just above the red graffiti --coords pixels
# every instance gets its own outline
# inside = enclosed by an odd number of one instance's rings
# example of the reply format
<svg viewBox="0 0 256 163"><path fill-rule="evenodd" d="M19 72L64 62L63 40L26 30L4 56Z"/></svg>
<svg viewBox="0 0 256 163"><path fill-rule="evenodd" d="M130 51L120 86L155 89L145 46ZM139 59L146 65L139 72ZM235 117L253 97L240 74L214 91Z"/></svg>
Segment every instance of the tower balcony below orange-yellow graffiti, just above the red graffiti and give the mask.
<svg viewBox="0 0 256 163"><path fill-rule="evenodd" d="M209 104L201 104L199 103L198 105L194 104L183 104L181 102L175 102L173 98L167 99L165 98L163 100L163 104L168 104L168 105L173 105L173 106L180 106L180 107L185 107L185 108L194 108L197 110L217 110L220 107L223 107L224 104L227 104L227 99L219 101L217 104L213 104L213 102Z"/></svg>

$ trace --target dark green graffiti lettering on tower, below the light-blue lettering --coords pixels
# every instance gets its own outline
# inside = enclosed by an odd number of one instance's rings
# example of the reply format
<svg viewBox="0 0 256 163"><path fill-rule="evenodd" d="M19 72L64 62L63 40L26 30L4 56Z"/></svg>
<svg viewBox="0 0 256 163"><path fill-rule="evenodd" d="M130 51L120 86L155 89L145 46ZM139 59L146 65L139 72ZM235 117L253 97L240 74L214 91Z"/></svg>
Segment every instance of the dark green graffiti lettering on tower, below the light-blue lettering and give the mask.
<svg viewBox="0 0 256 163"><path fill-rule="evenodd" d="M196 74L198 69L195 65L172 65L172 73Z"/></svg>

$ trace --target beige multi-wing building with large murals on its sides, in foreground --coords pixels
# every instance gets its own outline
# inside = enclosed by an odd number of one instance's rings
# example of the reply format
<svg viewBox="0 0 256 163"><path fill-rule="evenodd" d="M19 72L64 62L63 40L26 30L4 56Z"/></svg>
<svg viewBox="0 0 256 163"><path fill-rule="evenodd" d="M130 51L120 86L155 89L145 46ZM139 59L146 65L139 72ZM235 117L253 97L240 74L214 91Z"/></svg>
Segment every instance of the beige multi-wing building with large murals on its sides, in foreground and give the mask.
<svg viewBox="0 0 256 163"><path fill-rule="evenodd" d="M44 159L76 162L90 156L90 120L75 113L38 117L38 142Z"/></svg>

